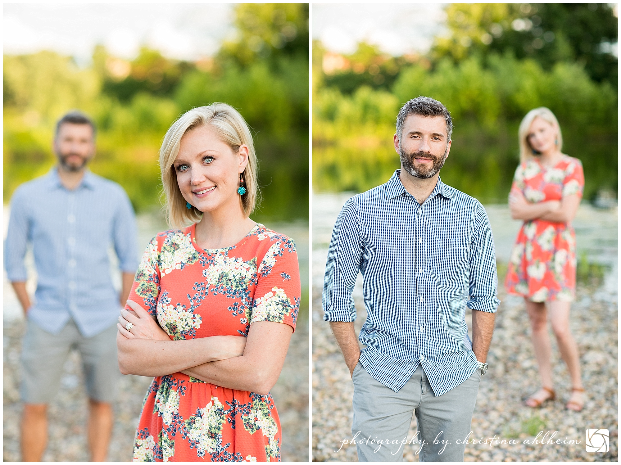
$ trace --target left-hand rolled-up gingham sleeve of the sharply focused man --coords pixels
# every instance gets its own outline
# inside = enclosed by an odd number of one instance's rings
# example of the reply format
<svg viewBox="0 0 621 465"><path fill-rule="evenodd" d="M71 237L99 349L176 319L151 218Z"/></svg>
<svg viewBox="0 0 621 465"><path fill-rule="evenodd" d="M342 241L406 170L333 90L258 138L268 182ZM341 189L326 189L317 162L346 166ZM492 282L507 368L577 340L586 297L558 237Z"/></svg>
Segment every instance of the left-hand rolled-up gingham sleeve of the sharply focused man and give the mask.
<svg viewBox="0 0 621 465"><path fill-rule="evenodd" d="M361 269L363 253L360 218L353 199L349 199L332 230L322 294L324 320L329 322L356 320L356 307L351 292Z"/></svg>

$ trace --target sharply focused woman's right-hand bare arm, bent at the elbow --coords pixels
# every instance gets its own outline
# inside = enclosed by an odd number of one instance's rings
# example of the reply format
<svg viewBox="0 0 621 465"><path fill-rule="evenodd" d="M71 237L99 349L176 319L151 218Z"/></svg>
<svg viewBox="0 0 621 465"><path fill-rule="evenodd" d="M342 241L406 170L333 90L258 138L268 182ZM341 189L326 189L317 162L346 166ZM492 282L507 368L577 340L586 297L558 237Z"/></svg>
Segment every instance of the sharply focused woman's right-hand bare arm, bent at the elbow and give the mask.
<svg viewBox="0 0 621 465"><path fill-rule="evenodd" d="M217 386L267 394L283 369L293 328L285 323L250 325L243 356L204 363L182 372Z"/></svg>

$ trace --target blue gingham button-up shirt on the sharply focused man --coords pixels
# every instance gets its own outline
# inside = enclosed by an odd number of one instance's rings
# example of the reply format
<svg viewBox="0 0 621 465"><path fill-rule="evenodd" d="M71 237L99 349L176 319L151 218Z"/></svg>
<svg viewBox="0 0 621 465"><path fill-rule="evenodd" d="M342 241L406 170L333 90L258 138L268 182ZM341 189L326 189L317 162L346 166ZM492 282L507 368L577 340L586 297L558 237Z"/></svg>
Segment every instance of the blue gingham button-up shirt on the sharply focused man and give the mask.
<svg viewBox="0 0 621 465"><path fill-rule="evenodd" d="M435 395L477 369L466 306L496 312L494 240L483 205L438 178L422 205L401 184L349 199L332 232L324 320L353 322L358 271L368 313L360 363L398 392L422 364Z"/></svg>

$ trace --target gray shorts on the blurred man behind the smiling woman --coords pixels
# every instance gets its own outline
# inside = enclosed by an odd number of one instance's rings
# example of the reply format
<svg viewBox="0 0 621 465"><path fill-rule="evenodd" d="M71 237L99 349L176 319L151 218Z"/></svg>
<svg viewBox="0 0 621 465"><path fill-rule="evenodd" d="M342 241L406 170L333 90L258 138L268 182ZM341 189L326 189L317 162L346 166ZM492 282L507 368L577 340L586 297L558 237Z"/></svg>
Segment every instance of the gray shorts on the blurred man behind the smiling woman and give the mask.
<svg viewBox="0 0 621 465"><path fill-rule="evenodd" d="M116 325L86 338L73 320L58 334L51 334L27 322L22 341L22 402L49 404L58 392L63 365L72 348L82 358L88 397L112 402L120 376L117 361Z"/></svg>

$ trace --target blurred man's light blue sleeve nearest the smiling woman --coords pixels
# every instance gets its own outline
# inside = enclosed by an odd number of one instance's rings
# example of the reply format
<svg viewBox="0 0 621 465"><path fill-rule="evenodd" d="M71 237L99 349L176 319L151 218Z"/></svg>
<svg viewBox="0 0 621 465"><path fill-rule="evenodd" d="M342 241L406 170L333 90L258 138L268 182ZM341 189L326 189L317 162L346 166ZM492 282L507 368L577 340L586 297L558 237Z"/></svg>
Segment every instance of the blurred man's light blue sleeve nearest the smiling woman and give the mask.
<svg viewBox="0 0 621 465"><path fill-rule="evenodd" d="M114 218L112 235L114 250L119 257L119 268L125 273L135 273L138 268L136 219L132 204L122 189L119 192L119 202Z"/></svg>

